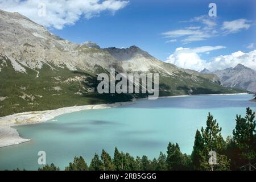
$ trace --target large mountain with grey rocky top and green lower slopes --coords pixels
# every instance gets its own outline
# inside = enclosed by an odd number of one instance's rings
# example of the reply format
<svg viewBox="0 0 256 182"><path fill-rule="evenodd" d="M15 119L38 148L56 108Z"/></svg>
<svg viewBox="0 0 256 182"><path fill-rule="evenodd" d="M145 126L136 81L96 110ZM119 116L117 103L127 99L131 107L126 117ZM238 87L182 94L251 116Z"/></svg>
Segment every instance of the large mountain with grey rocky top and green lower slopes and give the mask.
<svg viewBox="0 0 256 182"><path fill-rule="evenodd" d="M0 10L0 116L64 106L129 101L144 94L98 94L98 73L159 73L160 96L240 93L213 74L164 63L142 49L100 48L51 34L19 13Z"/></svg>

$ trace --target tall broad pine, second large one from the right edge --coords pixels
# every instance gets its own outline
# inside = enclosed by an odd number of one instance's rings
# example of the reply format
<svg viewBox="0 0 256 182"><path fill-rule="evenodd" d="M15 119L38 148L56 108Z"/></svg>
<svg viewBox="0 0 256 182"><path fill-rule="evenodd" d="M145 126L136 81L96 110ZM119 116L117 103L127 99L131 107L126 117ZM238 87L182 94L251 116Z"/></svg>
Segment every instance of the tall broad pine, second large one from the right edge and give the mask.
<svg viewBox="0 0 256 182"><path fill-rule="evenodd" d="M221 127L218 126L216 119L209 113L207 117L207 127L201 129L201 135L204 141L204 149L201 151L200 168L203 170L229 170L229 160L225 155L221 155L226 147L226 143L221 136ZM209 164L209 152L214 151L217 155L217 165L210 166Z"/></svg>

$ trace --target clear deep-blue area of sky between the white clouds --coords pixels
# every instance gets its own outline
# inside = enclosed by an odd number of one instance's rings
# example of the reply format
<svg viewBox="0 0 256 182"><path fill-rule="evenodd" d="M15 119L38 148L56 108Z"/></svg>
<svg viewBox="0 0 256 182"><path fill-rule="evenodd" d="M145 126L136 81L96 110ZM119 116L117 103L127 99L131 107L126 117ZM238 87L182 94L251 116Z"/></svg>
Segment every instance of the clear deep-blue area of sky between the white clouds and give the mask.
<svg viewBox="0 0 256 182"><path fill-rule="evenodd" d="M188 26L201 26L200 22L183 23L181 21L208 15L210 2L213 1L131 0L129 5L115 12L114 15L106 12L91 19L81 18L73 26L67 26L63 30L51 29L51 31L76 43L92 40L100 47L121 48L136 45L160 60L166 60L177 47L226 47L212 51L209 55L204 54L203 59L208 59L210 56L228 55L238 50L250 51L246 46L256 43L255 26L236 34L214 36L198 42L165 43L168 39L163 38L163 32ZM220 26L225 20L244 18L255 21L255 1L214 2L217 5L217 19Z"/></svg>

